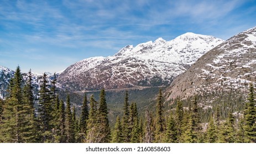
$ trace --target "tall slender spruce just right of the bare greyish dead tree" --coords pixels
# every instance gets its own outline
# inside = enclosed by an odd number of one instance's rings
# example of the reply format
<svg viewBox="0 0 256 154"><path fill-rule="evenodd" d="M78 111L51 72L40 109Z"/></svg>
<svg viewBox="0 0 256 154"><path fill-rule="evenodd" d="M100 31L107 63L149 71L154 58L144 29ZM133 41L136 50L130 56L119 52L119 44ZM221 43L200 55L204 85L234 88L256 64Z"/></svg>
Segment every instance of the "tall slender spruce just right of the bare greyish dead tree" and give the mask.
<svg viewBox="0 0 256 154"><path fill-rule="evenodd" d="M161 89L159 90L158 100L156 105L156 131L155 131L155 140L156 142L161 142L163 139L164 132L164 105L163 105L163 96Z"/></svg>

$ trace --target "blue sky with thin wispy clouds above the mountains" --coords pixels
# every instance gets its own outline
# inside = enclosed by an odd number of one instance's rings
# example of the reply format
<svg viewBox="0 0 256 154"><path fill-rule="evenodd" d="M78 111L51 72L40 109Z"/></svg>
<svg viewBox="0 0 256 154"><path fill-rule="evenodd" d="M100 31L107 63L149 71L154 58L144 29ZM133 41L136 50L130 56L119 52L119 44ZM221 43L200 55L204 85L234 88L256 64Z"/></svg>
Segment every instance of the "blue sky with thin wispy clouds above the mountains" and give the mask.
<svg viewBox="0 0 256 154"><path fill-rule="evenodd" d="M54 73L158 37L194 32L227 40L254 26L255 0L1 0L0 65Z"/></svg>

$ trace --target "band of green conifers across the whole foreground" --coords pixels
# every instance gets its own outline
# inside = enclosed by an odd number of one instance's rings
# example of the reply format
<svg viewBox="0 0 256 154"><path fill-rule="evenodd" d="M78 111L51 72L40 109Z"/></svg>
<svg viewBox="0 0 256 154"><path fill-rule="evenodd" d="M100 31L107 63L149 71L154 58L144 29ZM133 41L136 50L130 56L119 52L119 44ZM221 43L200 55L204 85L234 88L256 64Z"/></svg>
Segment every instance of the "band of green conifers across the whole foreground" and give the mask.
<svg viewBox="0 0 256 154"><path fill-rule="evenodd" d="M31 72L23 84L17 67L8 97L0 99L0 142L256 142L253 84L249 85L247 98L240 101L243 106L239 106L242 112L238 116L232 109L225 109L227 106L217 106L213 112L205 113L198 99L201 96L190 101L177 98L175 107L168 108L161 89L154 109L141 113L135 102L129 103L126 91L122 114L113 127L109 124L105 89L101 90L99 101L85 94L77 114L69 95L66 100L59 98L55 84L56 79L48 83L44 74L35 97ZM203 115L207 118L202 118Z"/></svg>

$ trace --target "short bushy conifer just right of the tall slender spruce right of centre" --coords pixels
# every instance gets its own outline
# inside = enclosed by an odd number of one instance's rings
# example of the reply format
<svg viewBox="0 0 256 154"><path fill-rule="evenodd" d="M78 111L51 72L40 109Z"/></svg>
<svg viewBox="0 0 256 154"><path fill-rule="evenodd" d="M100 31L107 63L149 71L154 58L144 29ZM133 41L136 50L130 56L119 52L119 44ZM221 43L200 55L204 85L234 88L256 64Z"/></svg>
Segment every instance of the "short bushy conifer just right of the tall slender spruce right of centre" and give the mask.
<svg viewBox="0 0 256 154"><path fill-rule="evenodd" d="M175 143L176 141L177 141L176 123L173 118L173 114L170 114L168 118L166 133L165 133L165 142Z"/></svg>

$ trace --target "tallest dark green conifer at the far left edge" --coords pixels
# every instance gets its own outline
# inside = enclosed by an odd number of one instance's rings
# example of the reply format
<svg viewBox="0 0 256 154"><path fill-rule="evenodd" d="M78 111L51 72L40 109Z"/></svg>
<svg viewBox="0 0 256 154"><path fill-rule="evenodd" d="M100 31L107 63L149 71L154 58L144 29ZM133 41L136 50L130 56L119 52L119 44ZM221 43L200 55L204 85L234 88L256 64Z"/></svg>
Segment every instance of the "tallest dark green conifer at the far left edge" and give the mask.
<svg viewBox="0 0 256 154"><path fill-rule="evenodd" d="M24 142L23 140L23 100L22 100L22 75L17 67L14 78L8 90L9 97L4 104L1 124L1 140L3 142Z"/></svg>

